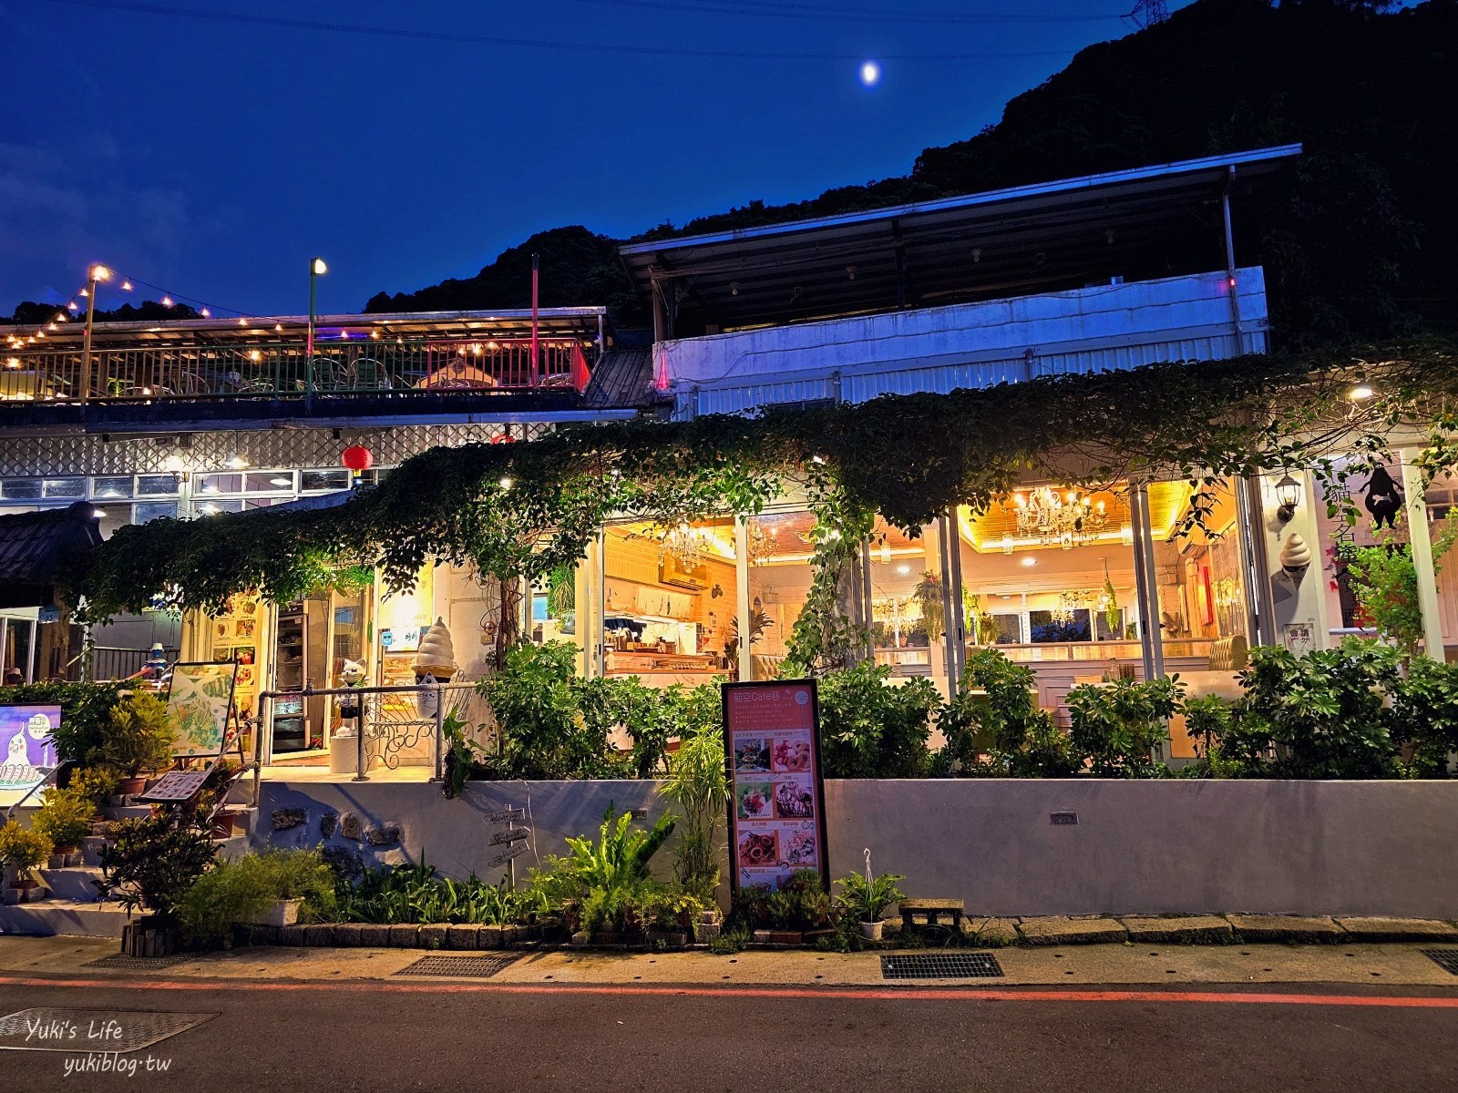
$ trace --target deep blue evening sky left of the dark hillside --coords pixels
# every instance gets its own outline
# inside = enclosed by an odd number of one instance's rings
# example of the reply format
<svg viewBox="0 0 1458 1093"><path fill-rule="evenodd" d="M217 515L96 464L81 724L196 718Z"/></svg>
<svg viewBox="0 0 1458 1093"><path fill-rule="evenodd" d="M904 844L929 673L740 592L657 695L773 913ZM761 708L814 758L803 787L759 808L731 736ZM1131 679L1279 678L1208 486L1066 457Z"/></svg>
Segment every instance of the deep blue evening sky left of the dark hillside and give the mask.
<svg viewBox="0 0 1458 1093"><path fill-rule="evenodd" d="M535 230L614 236L910 169L968 137L1133 0L159 0L601 47L557 51L0 0L0 316L87 262L246 312L474 274ZM1169 7L1182 6L1178 0ZM672 10L716 7L719 10ZM814 9L1089 22L862 22ZM886 60L644 57L618 47ZM1047 51L1047 55L1009 57ZM156 293L146 293L156 296ZM136 297L133 297L136 299ZM102 294L101 305L120 303Z"/></svg>

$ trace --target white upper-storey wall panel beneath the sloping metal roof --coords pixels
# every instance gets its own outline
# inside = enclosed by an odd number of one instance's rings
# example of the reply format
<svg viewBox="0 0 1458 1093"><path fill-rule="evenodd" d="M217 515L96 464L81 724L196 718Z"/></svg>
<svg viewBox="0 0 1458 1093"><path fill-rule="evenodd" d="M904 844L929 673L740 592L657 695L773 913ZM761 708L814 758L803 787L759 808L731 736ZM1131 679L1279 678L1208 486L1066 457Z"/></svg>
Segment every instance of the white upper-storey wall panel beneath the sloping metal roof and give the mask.
<svg viewBox="0 0 1458 1093"><path fill-rule="evenodd" d="M1239 340L1220 271L662 341L655 375L690 415L1264 351L1263 270L1235 291Z"/></svg>

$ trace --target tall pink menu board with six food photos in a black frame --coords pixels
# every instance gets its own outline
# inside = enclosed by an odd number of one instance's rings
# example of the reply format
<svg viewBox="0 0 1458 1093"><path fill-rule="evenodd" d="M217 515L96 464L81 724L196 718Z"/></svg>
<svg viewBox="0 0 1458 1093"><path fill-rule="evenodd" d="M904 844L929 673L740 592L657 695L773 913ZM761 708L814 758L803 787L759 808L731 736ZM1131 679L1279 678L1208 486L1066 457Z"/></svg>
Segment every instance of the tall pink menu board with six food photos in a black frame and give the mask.
<svg viewBox="0 0 1458 1093"><path fill-rule="evenodd" d="M814 679L723 683L729 880L780 885L814 869L830 888Z"/></svg>

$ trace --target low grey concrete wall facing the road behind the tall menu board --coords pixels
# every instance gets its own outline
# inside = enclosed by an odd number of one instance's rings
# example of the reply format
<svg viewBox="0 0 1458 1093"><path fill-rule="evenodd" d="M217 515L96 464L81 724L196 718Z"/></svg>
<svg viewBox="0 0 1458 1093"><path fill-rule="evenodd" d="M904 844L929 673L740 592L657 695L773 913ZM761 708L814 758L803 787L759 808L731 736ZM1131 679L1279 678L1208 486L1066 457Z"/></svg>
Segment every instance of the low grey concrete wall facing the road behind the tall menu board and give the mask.
<svg viewBox="0 0 1458 1093"><path fill-rule="evenodd" d="M649 781L471 783L459 800L439 786L265 783L254 845L315 845L319 815L357 812L398 823L398 861L421 850L443 871L496 879L481 815L529 807L529 864L593 838L608 803L665 802ZM1452 834L1458 781L827 781L831 876L863 867L904 873L903 890L961 896L994 915L1252 911L1458 918ZM309 820L270 831L276 807ZM1075 812L1075 826L1050 813ZM335 835L334 845L344 845ZM658 863L666 870L669 855Z"/></svg>

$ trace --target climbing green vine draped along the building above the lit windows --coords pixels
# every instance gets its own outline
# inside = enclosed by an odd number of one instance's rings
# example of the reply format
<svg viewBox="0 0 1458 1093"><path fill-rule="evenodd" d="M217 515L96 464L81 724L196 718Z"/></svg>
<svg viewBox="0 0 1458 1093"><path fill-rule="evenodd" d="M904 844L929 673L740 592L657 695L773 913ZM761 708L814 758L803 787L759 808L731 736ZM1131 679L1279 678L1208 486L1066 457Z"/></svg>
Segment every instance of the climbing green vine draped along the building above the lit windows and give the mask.
<svg viewBox="0 0 1458 1093"><path fill-rule="evenodd" d="M82 618L102 619L157 605L216 611L243 589L287 602L359 567L378 568L392 589L413 586L430 561L539 581L574 565L609 517L672 526L757 513L790 488L818 517L811 603L790 635L792 660L814 666L863 641L838 605L876 513L917 533L949 506L989 507L1025 475L1088 487L1182 477L1198 495L1226 475L1315 466L1336 494L1353 466L1379 461L1404 431L1422 437L1430 475L1458 459L1458 418L1441 405L1458 395L1455 366L1452 342L1414 342L752 418L563 426L535 440L432 449L331 509L120 528L76 563L67 592ZM1346 399L1357 376L1376 398ZM1356 461L1337 461L1353 452ZM1187 522L1203 512L1190 506Z"/></svg>

